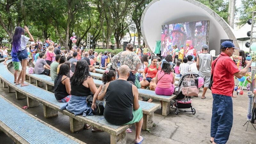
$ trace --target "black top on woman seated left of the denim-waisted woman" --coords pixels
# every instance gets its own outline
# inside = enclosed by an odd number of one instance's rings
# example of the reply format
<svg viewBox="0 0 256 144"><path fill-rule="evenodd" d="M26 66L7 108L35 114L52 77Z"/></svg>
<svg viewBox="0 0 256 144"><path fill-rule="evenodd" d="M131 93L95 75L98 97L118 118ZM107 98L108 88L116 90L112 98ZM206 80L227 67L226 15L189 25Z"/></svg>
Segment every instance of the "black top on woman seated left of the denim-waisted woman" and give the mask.
<svg viewBox="0 0 256 144"><path fill-rule="evenodd" d="M56 78L54 81L54 96L55 96L56 100L62 100L63 98L65 98L69 95L66 90L66 86L61 83L62 77L63 77L63 75L60 76L58 80ZM66 78L68 78L68 77L66 77Z"/></svg>

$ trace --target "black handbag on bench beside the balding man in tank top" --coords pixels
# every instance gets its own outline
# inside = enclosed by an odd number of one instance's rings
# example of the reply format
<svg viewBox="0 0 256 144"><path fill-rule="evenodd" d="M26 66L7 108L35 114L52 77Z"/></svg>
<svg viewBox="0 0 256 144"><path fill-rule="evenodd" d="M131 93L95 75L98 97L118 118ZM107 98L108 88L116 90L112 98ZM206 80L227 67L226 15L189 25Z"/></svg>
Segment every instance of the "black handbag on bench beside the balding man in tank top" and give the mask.
<svg viewBox="0 0 256 144"><path fill-rule="evenodd" d="M90 107L92 107L92 101L93 101L93 95L89 95L86 98L86 102L89 103ZM103 107L103 101L96 100L96 108L92 110L92 113L94 115L103 115L104 107Z"/></svg>

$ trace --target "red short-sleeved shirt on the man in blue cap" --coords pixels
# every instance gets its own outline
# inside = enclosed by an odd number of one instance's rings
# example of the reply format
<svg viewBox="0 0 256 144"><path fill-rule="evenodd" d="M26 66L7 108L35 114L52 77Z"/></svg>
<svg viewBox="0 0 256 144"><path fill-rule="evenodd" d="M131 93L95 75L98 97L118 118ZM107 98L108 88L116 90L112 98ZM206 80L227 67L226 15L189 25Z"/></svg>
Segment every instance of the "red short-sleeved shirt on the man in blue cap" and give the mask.
<svg viewBox="0 0 256 144"><path fill-rule="evenodd" d="M212 93L232 96L235 86L234 74L240 70L237 68L236 63L223 52L212 62L212 70L215 63Z"/></svg>

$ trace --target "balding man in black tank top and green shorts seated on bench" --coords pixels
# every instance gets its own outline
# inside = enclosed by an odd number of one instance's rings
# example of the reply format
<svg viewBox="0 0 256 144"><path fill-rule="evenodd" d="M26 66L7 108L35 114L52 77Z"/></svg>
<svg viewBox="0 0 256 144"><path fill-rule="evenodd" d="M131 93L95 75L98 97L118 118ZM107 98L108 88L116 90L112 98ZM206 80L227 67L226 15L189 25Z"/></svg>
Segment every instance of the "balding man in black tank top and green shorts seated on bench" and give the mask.
<svg viewBox="0 0 256 144"><path fill-rule="evenodd" d="M141 143L143 141L143 137L140 136L143 114L139 105L138 89L127 81L129 74L130 68L122 65L118 71L119 78L106 84L101 94L106 100L103 115L112 124L135 124L135 143ZM92 109L94 108L92 106Z"/></svg>

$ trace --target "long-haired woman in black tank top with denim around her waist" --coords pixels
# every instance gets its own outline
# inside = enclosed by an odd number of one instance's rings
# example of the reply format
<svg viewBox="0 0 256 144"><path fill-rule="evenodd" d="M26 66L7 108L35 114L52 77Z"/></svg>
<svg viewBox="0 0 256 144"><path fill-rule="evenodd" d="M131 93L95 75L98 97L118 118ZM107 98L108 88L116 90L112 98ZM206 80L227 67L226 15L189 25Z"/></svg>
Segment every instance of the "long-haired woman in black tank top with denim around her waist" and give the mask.
<svg viewBox="0 0 256 144"><path fill-rule="evenodd" d="M86 60L78 60L74 75L70 78L71 81L71 98L68 103L60 109L67 109L74 113L75 116L83 114L83 116L92 116L92 108L86 102L89 95L94 95L97 88L94 84L92 76L89 73L89 65ZM91 126L86 124L86 129Z"/></svg>

